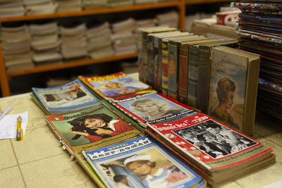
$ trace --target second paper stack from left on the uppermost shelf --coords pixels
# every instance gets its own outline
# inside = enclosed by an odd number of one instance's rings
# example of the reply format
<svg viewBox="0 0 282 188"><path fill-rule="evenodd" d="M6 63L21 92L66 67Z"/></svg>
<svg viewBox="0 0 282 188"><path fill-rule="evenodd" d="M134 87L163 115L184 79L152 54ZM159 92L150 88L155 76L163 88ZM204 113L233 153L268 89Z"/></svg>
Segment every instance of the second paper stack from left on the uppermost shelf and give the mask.
<svg viewBox="0 0 282 188"><path fill-rule="evenodd" d="M55 13L58 4L53 0L24 0L27 15Z"/></svg>

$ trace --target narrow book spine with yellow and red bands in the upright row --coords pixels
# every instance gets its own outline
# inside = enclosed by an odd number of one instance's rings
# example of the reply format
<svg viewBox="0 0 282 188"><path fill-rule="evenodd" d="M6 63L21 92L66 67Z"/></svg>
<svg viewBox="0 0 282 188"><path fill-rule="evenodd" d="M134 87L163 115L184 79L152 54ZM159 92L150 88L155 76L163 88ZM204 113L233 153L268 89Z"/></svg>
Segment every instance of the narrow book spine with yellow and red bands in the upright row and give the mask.
<svg viewBox="0 0 282 188"><path fill-rule="evenodd" d="M168 96L168 42L161 42L162 94Z"/></svg>

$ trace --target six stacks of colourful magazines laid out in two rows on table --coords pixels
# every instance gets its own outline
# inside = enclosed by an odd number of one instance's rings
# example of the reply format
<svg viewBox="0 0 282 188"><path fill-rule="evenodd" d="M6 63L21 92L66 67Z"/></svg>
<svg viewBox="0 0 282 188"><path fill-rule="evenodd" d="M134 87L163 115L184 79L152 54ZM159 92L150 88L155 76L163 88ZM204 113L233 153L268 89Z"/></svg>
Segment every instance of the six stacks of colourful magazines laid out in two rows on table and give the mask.
<svg viewBox="0 0 282 188"><path fill-rule="evenodd" d="M99 187L206 187L273 163L272 149L125 75L32 88L47 125Z"/></svg>

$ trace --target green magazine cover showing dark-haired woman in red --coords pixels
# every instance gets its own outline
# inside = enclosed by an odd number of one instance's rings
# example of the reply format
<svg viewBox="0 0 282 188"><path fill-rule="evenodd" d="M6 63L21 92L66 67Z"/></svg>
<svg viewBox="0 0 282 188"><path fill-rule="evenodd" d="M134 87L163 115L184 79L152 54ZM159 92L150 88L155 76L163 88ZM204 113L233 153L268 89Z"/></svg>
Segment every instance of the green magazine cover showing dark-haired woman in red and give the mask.
<svg viewBox="0 0 282 188"><path fill-rule="evenodd" d="M70 153L124 142L140 134L104 104L97 104L78 113L47 115L46 118L51 130Z"/></svg>

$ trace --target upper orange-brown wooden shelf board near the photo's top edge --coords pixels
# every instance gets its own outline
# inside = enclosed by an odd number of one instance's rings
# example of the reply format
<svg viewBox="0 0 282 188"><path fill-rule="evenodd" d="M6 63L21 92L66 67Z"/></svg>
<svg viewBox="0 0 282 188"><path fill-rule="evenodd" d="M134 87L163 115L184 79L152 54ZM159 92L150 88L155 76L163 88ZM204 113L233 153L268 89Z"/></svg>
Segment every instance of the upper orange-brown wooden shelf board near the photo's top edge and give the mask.
<svg viewBox="0 0 282 188"><path fill-rule="evenodd" d="M40 15L13 16L13 17L0 18L0 22L11 22L11 21L20 21L20 20L39 20L46 18L66 18L66 17L81 16L81 15L118 13L125 11L141 11L145 9L166 8L166 7L173 7L180 5L181 5L181 1L166 1L166 2L159 2L155 4L138 4L138 5L120 6L114 8L97 8L97 9L85 10L85 11L70 11L70 12L60 12L60 13L51 13L51 14L40 14Z"/></svg>

